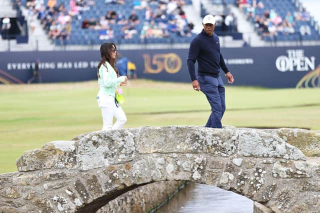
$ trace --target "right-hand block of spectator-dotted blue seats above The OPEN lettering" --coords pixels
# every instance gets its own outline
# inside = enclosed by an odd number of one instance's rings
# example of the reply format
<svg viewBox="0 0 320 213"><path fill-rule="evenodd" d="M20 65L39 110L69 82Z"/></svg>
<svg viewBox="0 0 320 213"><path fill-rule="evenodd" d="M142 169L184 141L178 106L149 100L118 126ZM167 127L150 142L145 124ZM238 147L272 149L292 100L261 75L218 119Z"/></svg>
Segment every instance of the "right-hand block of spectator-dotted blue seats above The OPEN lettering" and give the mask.
<svg viewBox="0 0 320 213"><path fill-rule="evenodd" d="M247 18L266 41L319 40L319 28L298 1L261 0L246 7Z"/></svg>

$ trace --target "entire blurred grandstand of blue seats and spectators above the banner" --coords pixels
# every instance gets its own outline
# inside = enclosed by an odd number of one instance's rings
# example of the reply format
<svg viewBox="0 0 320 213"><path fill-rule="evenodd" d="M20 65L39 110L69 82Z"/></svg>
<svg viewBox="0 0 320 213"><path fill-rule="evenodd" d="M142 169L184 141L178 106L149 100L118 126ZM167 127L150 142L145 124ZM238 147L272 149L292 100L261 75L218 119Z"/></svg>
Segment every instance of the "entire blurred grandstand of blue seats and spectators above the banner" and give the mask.
<svg viewBox="0 0 320 213"><path fill-rule="evenodd" d="M313 45L317 21L299 0L0 0L1 51L187 48L216 16L221 46Z"/></svg>

